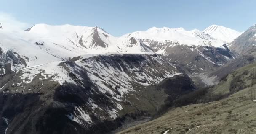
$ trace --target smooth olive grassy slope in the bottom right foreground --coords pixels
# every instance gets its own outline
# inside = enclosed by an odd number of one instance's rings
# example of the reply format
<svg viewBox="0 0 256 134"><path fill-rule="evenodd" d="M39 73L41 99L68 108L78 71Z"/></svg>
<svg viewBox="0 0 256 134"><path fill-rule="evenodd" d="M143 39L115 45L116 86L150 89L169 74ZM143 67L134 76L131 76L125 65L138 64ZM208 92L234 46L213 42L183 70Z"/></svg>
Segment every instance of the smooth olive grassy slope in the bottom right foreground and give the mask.
<svg viewBox="0 0 256 134"><path fill-rule="evenodd" d="M248 94L235 95L221 101L174 108L157 119L117 134L254 134L255 103L248 98Z"/></svg>

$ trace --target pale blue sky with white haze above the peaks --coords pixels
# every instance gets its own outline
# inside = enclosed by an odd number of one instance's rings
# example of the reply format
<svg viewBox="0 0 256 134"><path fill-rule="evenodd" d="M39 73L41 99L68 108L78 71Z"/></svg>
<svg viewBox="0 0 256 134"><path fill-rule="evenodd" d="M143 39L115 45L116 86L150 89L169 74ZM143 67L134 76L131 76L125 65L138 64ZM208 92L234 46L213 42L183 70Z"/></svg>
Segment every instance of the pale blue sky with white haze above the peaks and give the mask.
<svg viewBox="0 0 256 134"><path fill-rule="evenodd" d="M256 0L0 0L0 23L99 26L114 36L153 26L203 30L212 24L245 31Z"/></svg>

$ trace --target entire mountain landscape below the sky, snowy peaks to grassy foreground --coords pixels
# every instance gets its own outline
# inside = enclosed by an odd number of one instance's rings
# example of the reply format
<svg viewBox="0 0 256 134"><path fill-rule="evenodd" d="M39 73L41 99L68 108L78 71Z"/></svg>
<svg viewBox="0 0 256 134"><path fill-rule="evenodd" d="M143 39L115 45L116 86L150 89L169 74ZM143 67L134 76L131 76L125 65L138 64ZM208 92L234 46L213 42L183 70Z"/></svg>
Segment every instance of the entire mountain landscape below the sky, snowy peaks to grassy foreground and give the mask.
<svg viewBox="0 0 256 134"><path fill-rule="evenodd" d="M0 134L249 133L255 29L1 23Z"/></svg>

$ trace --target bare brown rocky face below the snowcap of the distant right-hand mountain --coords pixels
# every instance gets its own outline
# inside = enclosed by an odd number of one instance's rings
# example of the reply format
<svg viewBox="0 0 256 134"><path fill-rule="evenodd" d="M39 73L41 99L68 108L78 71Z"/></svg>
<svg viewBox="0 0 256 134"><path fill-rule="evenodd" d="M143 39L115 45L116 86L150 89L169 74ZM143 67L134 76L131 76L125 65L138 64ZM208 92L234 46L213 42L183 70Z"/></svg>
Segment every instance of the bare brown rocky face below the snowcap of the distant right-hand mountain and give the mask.
<svg viewBox="0 0 256 134"><path fill-rule="evenodd" d="M157 42L151 40L142 40L142 42L149 44L155 52L162 52L163 58L168 62L177 64L187 70L189 73L206 72L216 69L223 64L231 61L236 54L233 54L227 47L214 47L211 44L208 46L189 46L176 45L179 42L166 41Z"/></svg>

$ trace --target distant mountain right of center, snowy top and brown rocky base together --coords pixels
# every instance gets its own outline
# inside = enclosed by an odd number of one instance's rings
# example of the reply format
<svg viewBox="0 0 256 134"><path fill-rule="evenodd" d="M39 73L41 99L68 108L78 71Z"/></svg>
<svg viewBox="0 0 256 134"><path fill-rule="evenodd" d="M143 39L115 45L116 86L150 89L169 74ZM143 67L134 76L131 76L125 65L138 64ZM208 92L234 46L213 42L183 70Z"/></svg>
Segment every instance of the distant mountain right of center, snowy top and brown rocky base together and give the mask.
<svg viewBox="0 0 256 134"><path fill-rule="evenodd" d="M222 33L229 33L231 30L224 27L221 29ZM220 31L216 30L215 33ZM197 29L186 31L184 28L153 27L147 31L136 31L122 37L139 39L157 54L162 54L167 61L180 65L192 74L214 70L236 57L226 45L230 41L229 35L226 37L223 34L223 38L214 38Z"/></svg>

